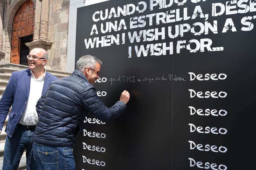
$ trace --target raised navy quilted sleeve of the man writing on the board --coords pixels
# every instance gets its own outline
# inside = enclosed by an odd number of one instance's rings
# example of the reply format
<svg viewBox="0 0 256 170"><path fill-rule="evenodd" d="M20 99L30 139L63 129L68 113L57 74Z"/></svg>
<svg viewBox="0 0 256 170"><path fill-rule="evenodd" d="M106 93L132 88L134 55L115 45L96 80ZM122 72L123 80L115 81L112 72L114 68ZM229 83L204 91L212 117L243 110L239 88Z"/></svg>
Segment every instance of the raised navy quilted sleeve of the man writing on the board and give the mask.
<svg viewBox="0 0 256 170"><path fill-rule="evenodd" d="M126 109L126 105L122 101L118 101L111 108L107 108L96 94L93 86L86 87L82 97L83 107L103 122L115 120Z"/></svg>

